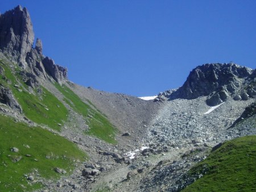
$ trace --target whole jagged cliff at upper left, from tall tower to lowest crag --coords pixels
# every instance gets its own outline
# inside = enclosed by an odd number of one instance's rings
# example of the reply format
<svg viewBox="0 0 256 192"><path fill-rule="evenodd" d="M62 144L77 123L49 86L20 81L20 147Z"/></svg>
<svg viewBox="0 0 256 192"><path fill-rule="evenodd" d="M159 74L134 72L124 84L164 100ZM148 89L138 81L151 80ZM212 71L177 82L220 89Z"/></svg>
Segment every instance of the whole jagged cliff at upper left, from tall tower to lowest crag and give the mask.
<svg viewBox="0 0 256 192"><path fill-rule="evenodd" d="M33 43L34 31L26 8L17 6L0 15L0 51L37 77L65 81L67 69L43 56L40 39L36 39L35 48Z"/></svg>

